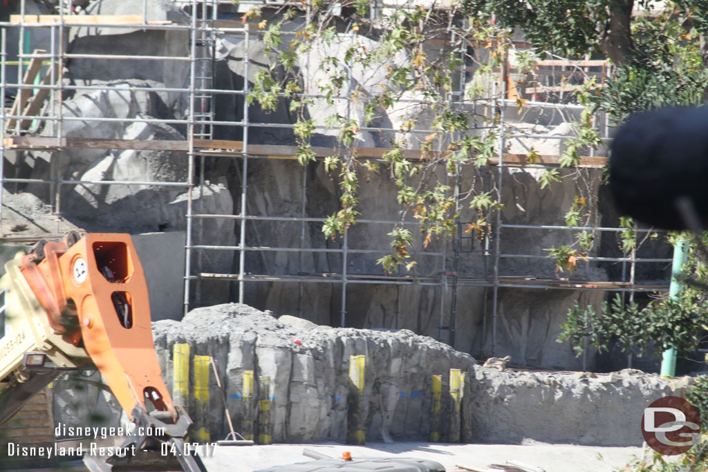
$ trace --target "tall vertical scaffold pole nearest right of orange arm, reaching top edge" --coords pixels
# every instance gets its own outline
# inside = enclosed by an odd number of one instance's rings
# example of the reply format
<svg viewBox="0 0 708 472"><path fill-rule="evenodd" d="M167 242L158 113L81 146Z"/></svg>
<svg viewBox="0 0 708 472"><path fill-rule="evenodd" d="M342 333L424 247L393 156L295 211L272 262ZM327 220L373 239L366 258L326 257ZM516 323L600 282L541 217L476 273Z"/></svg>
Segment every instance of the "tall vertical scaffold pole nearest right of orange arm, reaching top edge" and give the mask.
<svg viewBox="0 0 708 472"><path fill-rule="evenodd" d="M192 272L192 199L194 197L194 92L195 92L195 61L197 45L197 16L195 14L197 1L192 1L192 23L190 32L190 62L189 62L189 116L187 119L187 146L188 146L188 188L187 188L187 227L185 231L185 260L184 260L184 314L189 311L190 276Z"/></svg>

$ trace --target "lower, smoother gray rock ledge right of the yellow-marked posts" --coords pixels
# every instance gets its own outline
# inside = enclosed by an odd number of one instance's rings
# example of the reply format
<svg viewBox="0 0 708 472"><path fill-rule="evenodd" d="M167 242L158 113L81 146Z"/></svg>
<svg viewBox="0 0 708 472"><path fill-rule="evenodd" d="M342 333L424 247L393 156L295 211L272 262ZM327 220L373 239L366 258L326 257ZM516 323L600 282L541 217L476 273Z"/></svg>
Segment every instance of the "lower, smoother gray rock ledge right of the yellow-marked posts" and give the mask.
<svg viewBox="0 0 708 472"><path fill-rule="evenodd" d="M692 383L632 369L550 374L476 367L475 373L472 424L486 442L639 446L644 408L662 396L681 396Z"/></svg>

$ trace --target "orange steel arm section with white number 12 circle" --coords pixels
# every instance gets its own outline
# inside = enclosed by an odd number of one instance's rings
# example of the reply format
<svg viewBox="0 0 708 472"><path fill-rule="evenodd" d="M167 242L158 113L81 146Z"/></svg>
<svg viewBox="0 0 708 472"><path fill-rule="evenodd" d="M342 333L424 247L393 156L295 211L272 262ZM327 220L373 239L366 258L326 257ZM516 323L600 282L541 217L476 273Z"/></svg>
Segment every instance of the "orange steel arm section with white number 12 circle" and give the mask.
<svg viewBox="0 0 708 472"><path fill-rule="evenodd" d="M86 234L73 241L46 243L44 258L25 255L22 272L50 316L79 317L80 332L67 330L103 375L126 413L139 408L178 414L162 379L152 340L150 306L142 265L130 235ZM146 400L152 403L148 408Z"/></svg>

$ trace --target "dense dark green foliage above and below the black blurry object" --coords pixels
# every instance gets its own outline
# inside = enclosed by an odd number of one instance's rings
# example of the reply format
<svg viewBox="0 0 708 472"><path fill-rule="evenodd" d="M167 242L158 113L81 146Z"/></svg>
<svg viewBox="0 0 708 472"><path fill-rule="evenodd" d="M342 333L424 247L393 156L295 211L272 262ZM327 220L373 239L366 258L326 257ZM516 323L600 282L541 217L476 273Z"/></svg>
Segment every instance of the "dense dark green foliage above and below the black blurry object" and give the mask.
<svg viewBox="0 0 708 472"><path fill-rule="evenodd" d="M632 6L646 8L656 2L587 3L593 4L588 11L593 11L606 28L605 33L586 35L589 38L586 51L600 50L615 64L607 86L584 97L588 110L603 110L612 122L619 124L640 110L704 103L708 87L707 1L668 1L663 11L639 16L628 16L627 12ZM598 4L604 5L604 12L595 8ZM537 18L542 16L547 13ZM613 24L620 27L613 31ZM585 23L578 26L578 32L581 30L589 31ZM572 36L576 38L579 34ZM583 52L581 46L578 41L557 45L569 53ZM634 221L623 217L620 226L624 228L620 234L623 251L636 251L641 241L636 241ZM697 249L701 245L693 246L687 273L692 274L691 280L695 282L705 280L706 273ZM581 352L583 340L588 339L590 345L600 350L616 340L626 352L631 352L633 346L646 352L651 343L656 343L673 345L686 354L695 350L699 333L707 327L705 301L704 289L693 285L677 301L657 299L644 309L634 303L623 304L619 298L603 304L600 313L591 307L576 306L569 313L559 340L570 340L577 352Z"/></svg>

